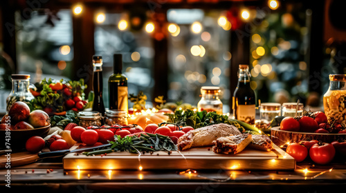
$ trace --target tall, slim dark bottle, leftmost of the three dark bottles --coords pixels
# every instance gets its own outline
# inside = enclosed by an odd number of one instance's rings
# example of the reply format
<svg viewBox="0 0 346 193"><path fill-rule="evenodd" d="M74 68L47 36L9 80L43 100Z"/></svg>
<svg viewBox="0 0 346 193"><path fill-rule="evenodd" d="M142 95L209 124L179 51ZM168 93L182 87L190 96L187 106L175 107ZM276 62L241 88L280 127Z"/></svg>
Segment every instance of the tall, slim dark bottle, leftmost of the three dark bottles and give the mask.
<svg viewBox="0 0 346 193"><path fill-rule="evenodd" d="M93 56L93 111L104 115L104 103L102 99L102 57Z"/></svg>

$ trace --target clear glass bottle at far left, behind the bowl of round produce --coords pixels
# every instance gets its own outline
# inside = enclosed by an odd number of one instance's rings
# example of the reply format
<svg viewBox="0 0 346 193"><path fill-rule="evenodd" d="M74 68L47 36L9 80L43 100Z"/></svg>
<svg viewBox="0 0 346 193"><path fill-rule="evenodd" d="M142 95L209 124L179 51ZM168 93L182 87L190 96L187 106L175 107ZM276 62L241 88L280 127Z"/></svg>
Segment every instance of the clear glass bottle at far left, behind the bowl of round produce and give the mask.
<svg viewBox="0 0 346 193"><path fill-rule="evenodd" d="M30 92L30 75L29 74L12 74L12 90L6 99L6 112L10 110L13 103L22 101L32 108L31 102L35 96Z"/></svg>

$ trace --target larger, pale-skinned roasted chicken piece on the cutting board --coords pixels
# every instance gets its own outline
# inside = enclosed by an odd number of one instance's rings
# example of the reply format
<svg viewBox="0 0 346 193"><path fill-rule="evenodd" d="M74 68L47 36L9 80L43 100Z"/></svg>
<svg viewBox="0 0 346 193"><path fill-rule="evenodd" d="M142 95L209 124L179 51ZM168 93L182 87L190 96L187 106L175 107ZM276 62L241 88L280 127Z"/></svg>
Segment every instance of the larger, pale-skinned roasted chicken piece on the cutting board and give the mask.
<svg viewBox="0 0 346 193"><path fill-rule="evenodd" d="M177 145L179 150L188 150L193 147L212 145L212 141L215 141L221 136L230 136L237 134L242 134L242 132L240 132L235 126L225 123L219 123L195 130L190 130L179 138Z"/></svg>

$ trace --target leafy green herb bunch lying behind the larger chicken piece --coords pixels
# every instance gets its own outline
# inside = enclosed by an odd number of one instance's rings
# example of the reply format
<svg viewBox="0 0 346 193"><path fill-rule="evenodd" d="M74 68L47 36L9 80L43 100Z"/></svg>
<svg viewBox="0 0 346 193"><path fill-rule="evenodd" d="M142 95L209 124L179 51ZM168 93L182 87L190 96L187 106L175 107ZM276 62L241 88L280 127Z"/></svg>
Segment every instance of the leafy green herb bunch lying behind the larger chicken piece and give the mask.
<svg viewBox="0 0 346 193"><path fill-rule="evenodd" d="M230 121L227 115L217 114L217 112L207 112L203 110L201 112L195 112L193 110L176 110L174 114L166 114L169 118L167 122L176 123L183 127L191 126L194 129L203 128L208 125L226 123L229 125L234 125L241 132L245 129L242 125L239 125L237 121Z"/></svg>

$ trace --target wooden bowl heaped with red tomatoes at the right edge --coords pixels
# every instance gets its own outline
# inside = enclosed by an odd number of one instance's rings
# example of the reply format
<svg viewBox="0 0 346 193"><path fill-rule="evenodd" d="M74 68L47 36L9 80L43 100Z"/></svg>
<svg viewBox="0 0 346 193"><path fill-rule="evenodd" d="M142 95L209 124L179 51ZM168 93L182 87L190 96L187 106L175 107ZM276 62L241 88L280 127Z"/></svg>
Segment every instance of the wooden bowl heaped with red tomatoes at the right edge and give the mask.
<svg viewBox="0 0 346 193"><path fill-rule="evenodd" d="M346 139L346 128L338 122L327 123L323 112L314 112L300 117L285 117L277 127L271 128L271 140L276 145L299 143L316 139L331 143Z"/></svg>

